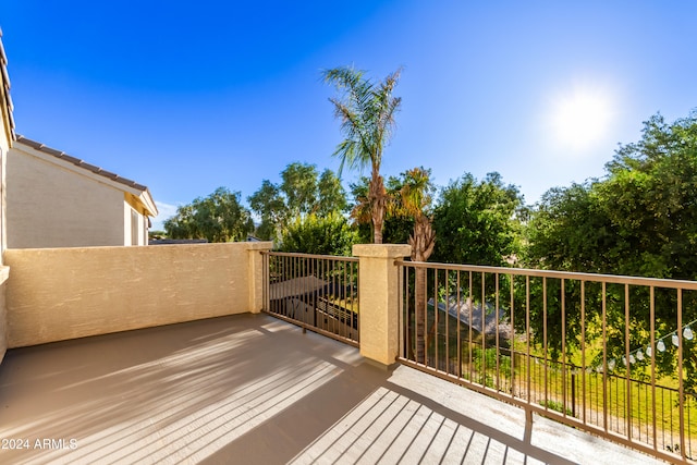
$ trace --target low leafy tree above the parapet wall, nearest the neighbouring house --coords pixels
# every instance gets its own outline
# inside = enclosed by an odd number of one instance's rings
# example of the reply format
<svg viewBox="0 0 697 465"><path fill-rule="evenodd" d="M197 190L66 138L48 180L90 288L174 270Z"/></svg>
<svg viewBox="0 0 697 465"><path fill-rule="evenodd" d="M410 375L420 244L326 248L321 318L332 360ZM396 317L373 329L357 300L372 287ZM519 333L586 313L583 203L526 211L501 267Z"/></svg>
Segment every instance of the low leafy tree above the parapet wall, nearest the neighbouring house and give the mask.
<svg viewBox="0 0 697 465"><path fill-rule="evenodd" d="M164 222L172 238L206 238L209 242L242 241L254 231L249 210L240 204L240 193L218 187L208 197L198 197L176 209Z"/></svg>

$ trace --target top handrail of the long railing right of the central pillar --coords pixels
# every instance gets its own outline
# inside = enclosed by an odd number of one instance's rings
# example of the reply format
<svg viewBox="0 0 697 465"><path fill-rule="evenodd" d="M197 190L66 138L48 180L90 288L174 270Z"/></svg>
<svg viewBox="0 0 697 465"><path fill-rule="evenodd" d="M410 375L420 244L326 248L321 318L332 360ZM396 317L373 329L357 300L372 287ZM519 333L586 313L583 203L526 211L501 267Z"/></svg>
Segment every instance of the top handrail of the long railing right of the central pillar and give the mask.
<svg viewBox="0 0 697 465"><path fill-rule="evenodd" d="M559 278L567 280L578 281L594 281L606 282L612 284L629 284L629 285L646 285L662 289L683 289L697 291L697 281L688 280L674 280L674 279L661 279L661 278L644 278L644 277L628 277L622 274L601 274L601 273L587 273L575 271L553 271L553 270L536 270L531 268L508 268L508 267L490 267L481 265L453 265L453 264L439 264L433 261L409 261L409 260L395 260L395 265L407 266L413 268L439 268L442 270L453 271L478 271L485 273L498 273L498 274L518 274L529 276L536 278Z"/></svg>

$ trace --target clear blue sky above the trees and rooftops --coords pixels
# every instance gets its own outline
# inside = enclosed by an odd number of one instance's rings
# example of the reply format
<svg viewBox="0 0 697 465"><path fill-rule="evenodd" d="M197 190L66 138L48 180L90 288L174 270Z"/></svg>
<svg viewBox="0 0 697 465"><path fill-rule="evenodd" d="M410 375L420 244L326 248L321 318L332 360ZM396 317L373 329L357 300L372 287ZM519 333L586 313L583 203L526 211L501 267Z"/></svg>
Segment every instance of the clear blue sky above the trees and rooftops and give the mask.
<svg viewBox="0 0 697 465"><path fill-rule="evenodd" d="M156 228L293 161L337 169L320 72L347 64L404 66L384 175L498 171L533 204L697 107L695 19L692 0L0 4L17 133L146 184Z"/></svg>

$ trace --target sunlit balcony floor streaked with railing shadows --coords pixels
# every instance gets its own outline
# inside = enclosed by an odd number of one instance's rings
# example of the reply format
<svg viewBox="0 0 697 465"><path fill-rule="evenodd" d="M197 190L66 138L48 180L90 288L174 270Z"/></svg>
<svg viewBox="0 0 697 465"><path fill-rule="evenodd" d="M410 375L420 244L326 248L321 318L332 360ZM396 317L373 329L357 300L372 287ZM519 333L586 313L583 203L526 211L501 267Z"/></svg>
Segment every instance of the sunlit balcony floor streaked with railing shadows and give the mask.
<svg viewBox="0 0 697 465"><path fill-rule="evenodd" d="M16 348L0 365L2 464L656 463L542 418L525 440L524 417L267 315Z"/></svg>

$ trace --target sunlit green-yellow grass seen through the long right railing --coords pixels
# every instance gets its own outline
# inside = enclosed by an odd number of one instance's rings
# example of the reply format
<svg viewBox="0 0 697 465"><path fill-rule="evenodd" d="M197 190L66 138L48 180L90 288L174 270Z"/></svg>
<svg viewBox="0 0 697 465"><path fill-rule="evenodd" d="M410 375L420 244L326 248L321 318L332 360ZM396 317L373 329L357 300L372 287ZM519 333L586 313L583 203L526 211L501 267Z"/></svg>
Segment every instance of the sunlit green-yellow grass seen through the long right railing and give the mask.
<svg viewBox="0 0 697 465"><path fill-rule="evenodd" d="M433 356L438 346L440 369L444 368L445 356L450 358L451 366L456 366L458 353L457 320L450 316L443 318L443 316L444 314L440 313L436 326L432 308L427 315L427 327L431 331L427 351L430 356ZM438 344L433 338L436 328ZM447 328L448 338L445 338ZM632 429L633 438L649 443L653 440L653 404L656 404L656 435L659 446L675 450L675 444L680 443L678 396L673 379L665 377L657 379L656 394L653 394L650 384L638 380L631 380L627 387L626 378L611 375L606 377L596 370L591 372L575 370L574 372L570 366L562 370L560 363L543 358L528 358L526 341L514 344L515 353L512 359L511 350L509 347L497 350L493 338L484 341L482 344L481 338L477 338L475 331L473 335L475 336L470 342L467 327L461 323L460 362L462 365L460 368L464 379L528 399L550 411L565 413L567 416L575 416L603 428L607 423L611 431L626 435L628 427ZM499 341L499 343L502 342ZM594 347L588 348L587 362L591 359L592 351ZM540 356L543 355L543 351L531 346L530 355ZM572 360L576 358L580 362L580 353L574 354ZM638 371L635 372L638 374ZM574 397L572 397L572 380L575 383ZM689 443L697 441L697 401L688 399L684 412L685 436L689 453ZM695 445L697 446L697 443Z"/></svg>

